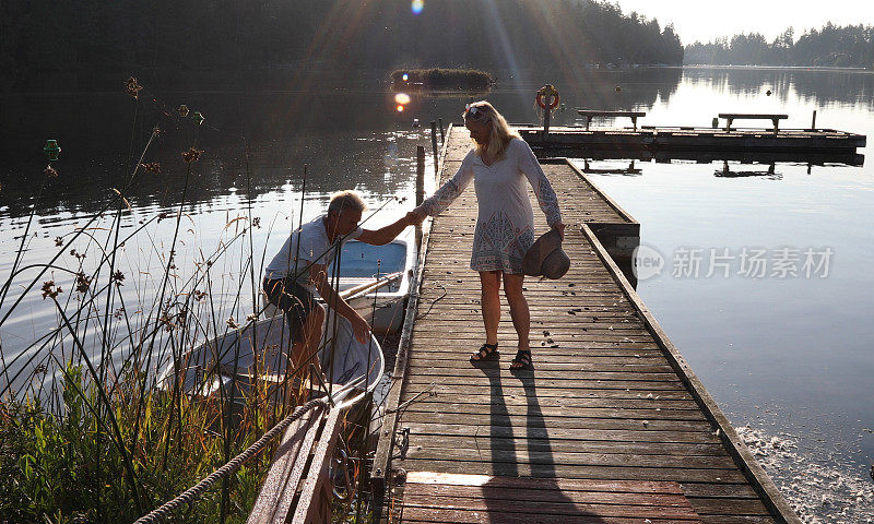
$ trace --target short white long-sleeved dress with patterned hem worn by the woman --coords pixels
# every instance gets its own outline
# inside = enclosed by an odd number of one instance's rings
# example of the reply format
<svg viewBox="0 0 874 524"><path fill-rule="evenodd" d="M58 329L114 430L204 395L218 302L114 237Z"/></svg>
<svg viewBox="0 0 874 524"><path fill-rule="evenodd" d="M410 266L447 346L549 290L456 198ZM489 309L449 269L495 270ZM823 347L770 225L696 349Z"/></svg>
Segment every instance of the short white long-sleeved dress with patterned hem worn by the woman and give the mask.
<svg viewBox="0 0 874 524"><path fill-rule="evenodd" d="M555 191L531 147L521 139L512 139L504 158L491 166L471 150L458 172L425 200L421 210L432 216L439 214L473 180L480 212L471 269L519 274L525 251L534 243L534 212L525 179L550 226L562 222Z"/></svg>

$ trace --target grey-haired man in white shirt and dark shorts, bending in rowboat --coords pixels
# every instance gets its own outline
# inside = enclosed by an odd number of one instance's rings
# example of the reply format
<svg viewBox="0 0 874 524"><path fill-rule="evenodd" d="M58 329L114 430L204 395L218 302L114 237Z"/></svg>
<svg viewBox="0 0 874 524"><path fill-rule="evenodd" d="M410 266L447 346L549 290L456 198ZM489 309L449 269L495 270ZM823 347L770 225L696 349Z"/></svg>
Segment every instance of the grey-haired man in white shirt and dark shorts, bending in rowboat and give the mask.
<svg viewBox="0 0 874 524"><path fill-rule="evenodd" d="M268 300L285 312L292 330L291 365L295 369L305 360L311 360L318 366L316 350L321 341L326 311L314 297L317 291L338 314L352 323L358 342L365 343L370 336L367 321L329 283L328 266L336 255L334 250L342 250L343 243L352 239L383 246L392 241L406 226L422 222L411 212L380 229L362 229L358 222L366 210L367 206L356 192L346 190L334 193L328 204L328 213L292 233L264 270L263 287Z"/></svg>

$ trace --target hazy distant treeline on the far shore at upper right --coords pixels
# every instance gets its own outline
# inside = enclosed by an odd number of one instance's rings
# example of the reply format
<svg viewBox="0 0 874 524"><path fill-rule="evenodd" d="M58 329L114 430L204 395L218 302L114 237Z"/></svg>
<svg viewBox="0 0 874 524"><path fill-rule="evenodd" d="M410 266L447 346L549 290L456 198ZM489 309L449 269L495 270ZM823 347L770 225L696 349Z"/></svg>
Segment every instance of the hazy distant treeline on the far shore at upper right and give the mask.
<svg viewBox="0 0 874 524"><path fill-rule="evenodd" d="M720 66L807 66L874 68L874 26L836 26L810 29L794 39L788 28L772 41L758 33L739 34L686 46L683 63Z"/></svg>

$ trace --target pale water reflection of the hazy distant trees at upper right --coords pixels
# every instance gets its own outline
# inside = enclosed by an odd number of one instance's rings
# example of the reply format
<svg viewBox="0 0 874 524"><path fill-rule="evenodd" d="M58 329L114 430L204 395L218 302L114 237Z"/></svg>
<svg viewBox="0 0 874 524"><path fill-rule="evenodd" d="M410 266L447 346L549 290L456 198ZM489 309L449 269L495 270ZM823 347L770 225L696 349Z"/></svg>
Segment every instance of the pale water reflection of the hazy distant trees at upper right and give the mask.
<svg viewBox="0 0 874 524"><path fill-rule="evenodd" d="M683 81L742 95L760 95L767 88L780 100L793 94L820 106L838 103L874 107L874 75L860 71L685 68Z"/></svg>

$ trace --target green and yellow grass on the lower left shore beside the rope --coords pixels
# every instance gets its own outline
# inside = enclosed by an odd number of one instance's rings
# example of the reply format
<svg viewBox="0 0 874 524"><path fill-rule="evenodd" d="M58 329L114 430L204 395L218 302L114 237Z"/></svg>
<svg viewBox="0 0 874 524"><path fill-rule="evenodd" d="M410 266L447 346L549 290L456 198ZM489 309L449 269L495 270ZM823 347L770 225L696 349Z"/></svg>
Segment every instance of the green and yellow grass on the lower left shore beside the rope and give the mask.
<svg viewBox="0 0 874 524"><path fill-rule="evenodd" d="M132 401L140 378L130 372L113 384L107 406L83 366L68 365L63 373L62 414L34 398L0 404L2 522L131 523L222 464L225 437L233 436L231 454L239 453L276 415L249 403L227 433L218 402L154 392L139 408ZM209 490L173 522L245 522L271 456L249 461L225 490Z"/></svg>

